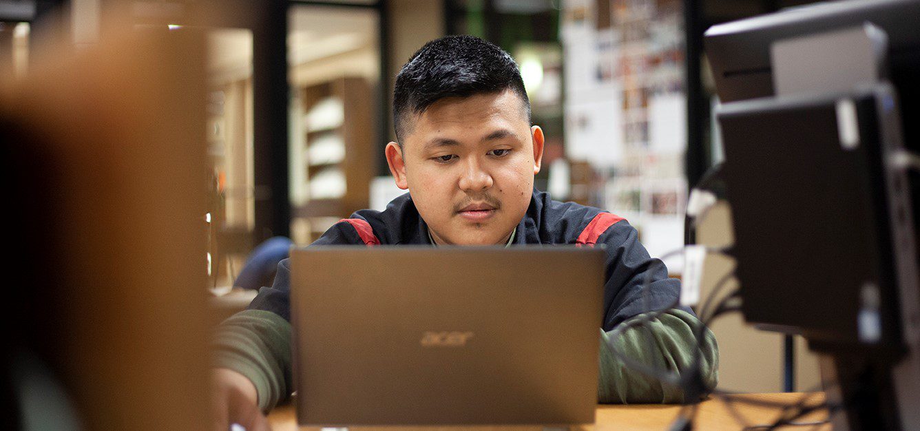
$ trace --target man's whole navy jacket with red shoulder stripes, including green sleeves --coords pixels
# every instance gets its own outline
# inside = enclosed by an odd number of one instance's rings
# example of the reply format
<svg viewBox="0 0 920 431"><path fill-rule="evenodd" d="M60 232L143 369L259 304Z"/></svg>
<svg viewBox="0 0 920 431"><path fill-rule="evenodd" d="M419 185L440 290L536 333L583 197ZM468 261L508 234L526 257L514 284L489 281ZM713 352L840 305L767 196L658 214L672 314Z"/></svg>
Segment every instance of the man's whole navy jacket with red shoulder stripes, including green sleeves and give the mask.
<svg viewBox="0 0 920 431"><path fill-rule="evenodd" d="M667 269L638 243L638 233L626 220L596 208L558 202L534 190L511 241L511 245L603 244L607 253L604 321L599 331L599 402L684 401L683 388L630 369L621 357L680 374L691 366L698 351L702 359L699 376L707 387L716 386L719 349L714 335L705 330L703 342L696 342L694 328L700 324L696 316L689 309L674 307L680 283L667 277ZM382 212L355 212L313 244L431 244L431 240L428 226L406 194ZM643 298L642 284L647 278L649 290ZM290 280L290 262L285 259L278 265L274 285L260 289L248 309L221 323L214 337L214 366L234 369L251 380L263 410L293 391ZM618 323L650 310L666 311L614 336ZM527 336L526 328L522 336Z"/></svg>

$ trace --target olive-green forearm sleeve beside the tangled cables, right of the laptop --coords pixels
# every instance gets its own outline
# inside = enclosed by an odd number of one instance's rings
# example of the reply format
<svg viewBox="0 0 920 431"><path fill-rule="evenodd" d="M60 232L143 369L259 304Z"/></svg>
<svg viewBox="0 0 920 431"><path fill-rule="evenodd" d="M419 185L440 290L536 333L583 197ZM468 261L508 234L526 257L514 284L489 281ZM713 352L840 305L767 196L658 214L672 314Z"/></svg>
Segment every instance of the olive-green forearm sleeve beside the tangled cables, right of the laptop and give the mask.
<svg viewBox="0 0 920 431"><path fill-rule="evenodd" d="M638 318L638 317L637 317ZM623 323L621 323L623 324ZM681 388L661 383L636 370L628 369L611 348L651 367L682 372L693 361L696 338L693 328L702 323L682 310L664 312L649 324L632 326L611 343L612 332L601 331L599 403L683 403ZM647 331L645 328L649 328ZM719 381L719 346L709 329L704 330L701 350L701 378L707 388Z"/></svg>

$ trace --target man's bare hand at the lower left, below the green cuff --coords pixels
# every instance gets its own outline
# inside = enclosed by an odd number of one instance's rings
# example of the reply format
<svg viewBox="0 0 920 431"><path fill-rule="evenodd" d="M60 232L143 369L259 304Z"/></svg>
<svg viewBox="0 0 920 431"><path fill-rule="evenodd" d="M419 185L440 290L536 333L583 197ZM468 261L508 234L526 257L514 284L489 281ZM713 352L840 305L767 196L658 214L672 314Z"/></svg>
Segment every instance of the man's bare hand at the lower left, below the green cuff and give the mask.
<svg viewBox="0 0 920 431"><path fill-rule="evenodd" d="M232 369L213 369L213 416L216 431L228 431L231 424L247 431L269 431L269 420L259 411L256 386Z"/></svg>

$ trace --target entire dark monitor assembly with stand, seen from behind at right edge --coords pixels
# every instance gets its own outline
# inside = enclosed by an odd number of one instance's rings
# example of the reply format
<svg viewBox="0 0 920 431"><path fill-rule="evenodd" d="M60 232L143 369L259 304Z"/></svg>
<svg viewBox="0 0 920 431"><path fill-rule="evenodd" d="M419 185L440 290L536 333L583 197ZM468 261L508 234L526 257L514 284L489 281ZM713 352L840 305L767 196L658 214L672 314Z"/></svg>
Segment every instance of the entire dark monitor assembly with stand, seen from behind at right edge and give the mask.
<svg viewBox="0 0 920 431"><path fill-rule="evenodd" d="M742 312L822 355L842 429L920 427L918 19L833 2L705 37Z"/></svg>

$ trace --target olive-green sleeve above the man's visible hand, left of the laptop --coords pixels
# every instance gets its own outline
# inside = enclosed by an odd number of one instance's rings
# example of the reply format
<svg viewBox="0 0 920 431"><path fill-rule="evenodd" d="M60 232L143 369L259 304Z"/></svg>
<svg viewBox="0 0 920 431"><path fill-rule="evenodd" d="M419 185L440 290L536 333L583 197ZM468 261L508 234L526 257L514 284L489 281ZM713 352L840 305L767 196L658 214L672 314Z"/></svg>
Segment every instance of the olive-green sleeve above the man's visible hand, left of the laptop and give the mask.
<svg viewBox="0 0 920 431"><path fill-rule="evenodd" d="M237 312L217 327L213 343L214 367L252 380L263 411L291 395L291 323L284 318L263 310Z"/></svg>

